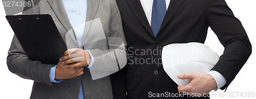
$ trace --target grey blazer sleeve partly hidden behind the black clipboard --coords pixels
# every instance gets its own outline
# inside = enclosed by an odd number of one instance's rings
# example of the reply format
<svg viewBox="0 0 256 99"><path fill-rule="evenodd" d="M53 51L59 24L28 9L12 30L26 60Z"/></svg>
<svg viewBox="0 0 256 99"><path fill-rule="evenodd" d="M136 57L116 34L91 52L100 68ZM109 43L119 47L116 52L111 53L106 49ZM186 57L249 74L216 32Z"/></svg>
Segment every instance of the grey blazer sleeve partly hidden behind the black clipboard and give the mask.
<svg viewBox="0 0 256 99"><path fill-rule="evenodd" d="M29 9L23 13L35 13L33 10ZM34 80L42 84L53 85L49 75L51 67L55 64L42 64L40 61L30 60L15 35L8 51L7 65L12 73L22 78Z"/></svg>

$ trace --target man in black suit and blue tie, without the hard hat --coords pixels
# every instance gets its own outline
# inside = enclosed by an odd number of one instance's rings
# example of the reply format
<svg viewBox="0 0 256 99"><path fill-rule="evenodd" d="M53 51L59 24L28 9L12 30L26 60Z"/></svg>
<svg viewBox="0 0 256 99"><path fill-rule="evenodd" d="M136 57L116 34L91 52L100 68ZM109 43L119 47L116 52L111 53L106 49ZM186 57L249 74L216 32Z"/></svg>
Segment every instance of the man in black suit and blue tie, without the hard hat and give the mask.
<svg viewBox="0 0 256 99"><path fill-rule="evenodd" d="M247 34L225 0L116 2L130 54L126 65L126 81L121 79L122 71L119 72L119 85L114 86L119 86L119 90L113 90L113 93L119 94L120 97L126 95L125 90L127 98L187 98L189 95L186 97L179 92L200 93L202 96L211 90L225 89L251 54ZM209 26L225 47L223 55L208 74L179 75L180 79L192 81L184 87L178 86L163 70L162 48L173 43L204 43ZM121 81L123 83L120 83ZM122 87L124 84L126 89Z"/></svg>

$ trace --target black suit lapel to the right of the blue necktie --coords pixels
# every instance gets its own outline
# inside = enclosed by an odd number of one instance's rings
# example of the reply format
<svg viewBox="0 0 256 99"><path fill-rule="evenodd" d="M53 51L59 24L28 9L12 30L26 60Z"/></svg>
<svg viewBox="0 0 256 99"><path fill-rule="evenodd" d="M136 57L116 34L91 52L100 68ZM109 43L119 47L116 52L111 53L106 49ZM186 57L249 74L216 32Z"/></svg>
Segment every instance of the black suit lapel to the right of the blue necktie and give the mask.
<svg viewBox="0 0 256 99"><path fill-rule="evenodd" d="M180 6L182 5L182 3L184 1L185 0L171 0L170 1L169 7L168 7L165 17L163 19L163 23L159 29L159 32L170 21L170 19L173 18L173 16L175 15L175 13L177 12L177 10L180 8Z"/></svg>

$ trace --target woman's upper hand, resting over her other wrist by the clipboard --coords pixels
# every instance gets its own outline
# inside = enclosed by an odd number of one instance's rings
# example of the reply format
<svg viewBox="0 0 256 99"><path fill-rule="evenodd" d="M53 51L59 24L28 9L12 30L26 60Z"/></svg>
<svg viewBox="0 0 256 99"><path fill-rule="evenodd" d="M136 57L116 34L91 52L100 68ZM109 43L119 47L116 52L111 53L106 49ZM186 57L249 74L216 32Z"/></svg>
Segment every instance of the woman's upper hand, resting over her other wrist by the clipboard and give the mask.
<svg viewBox="0 0 256 99"><path fill-rule="evenodd" d="M68 68L86 67L91 62L91 56L83 49L68 49L59 59Z"/></svg>

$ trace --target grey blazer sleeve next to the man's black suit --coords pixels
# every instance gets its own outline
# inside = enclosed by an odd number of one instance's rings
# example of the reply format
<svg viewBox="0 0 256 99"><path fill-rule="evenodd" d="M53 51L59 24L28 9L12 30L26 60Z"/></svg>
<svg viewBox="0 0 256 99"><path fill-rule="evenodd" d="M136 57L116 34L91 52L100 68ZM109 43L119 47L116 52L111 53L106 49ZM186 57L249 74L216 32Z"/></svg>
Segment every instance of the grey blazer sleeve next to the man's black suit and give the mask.
<svg viewBox="0 0 256 99"><path fill-rule="evenodd" d="M108 50L92 49L94 64L90 68L92 79L109 76L122 69L127 62L126 41L124 38L120 12L115 1L111 0L111 22L106 37Z"/></svg>

